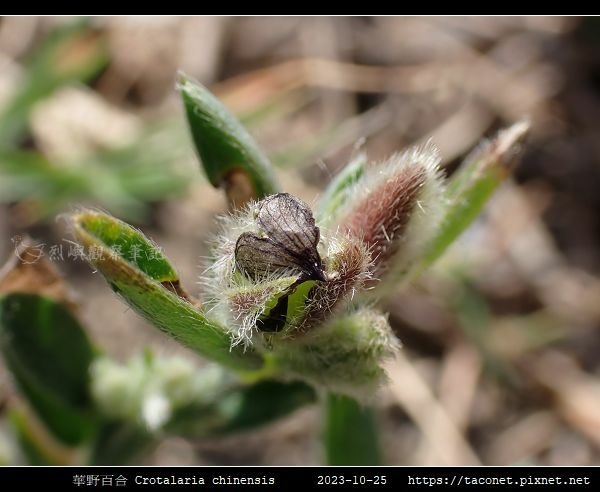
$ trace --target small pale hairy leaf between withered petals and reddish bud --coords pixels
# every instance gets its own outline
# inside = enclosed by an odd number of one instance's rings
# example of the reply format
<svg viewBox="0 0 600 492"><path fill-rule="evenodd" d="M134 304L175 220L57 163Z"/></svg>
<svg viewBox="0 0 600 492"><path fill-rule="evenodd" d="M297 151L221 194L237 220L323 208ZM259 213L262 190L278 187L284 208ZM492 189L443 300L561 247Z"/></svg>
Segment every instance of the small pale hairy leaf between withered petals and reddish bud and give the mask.
<svg viewBox="0 0 600 492"><path fill-rule="evenodd" d="M346 204L349 192L365 172L367 155L359 154L331 180L319 200L317 223L322 226L335 222L340 209Z"/></svg>

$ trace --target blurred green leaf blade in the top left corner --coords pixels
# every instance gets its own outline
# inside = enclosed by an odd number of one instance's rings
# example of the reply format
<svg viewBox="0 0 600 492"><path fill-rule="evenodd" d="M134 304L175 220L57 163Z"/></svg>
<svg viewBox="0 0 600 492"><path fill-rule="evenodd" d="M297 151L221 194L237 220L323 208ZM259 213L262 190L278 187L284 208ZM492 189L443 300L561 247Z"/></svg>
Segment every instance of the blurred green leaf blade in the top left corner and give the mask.
<svg viewBox="0 0 600 492"><path fill-rule="evenodd" d="M23 137L33 106L57 88L86 81L108 63L104 36L84 19L58 27L26 62L17 93L0 115L0 147Z"/></svg>

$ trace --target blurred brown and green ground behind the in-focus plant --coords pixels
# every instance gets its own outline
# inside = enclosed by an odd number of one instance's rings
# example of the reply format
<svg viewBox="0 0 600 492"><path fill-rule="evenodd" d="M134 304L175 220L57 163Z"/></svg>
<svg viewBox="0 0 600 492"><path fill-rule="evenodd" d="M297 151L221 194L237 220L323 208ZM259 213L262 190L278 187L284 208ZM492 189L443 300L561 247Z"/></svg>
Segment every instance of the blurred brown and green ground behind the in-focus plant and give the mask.
<svg viewBox="0 0 600 492"><path fill-rule="evenodd" d="M450 175L528 118L513 178L383 306L403 343L377 399L384 459L600 464L598 18L1 18L0 261L30 235L99 346L200 365L116 299L57 220L93 205L135 224L198 291L227 205L193 154L178 69L312 204L359 148L377 160L432 139ZM0 368L0 409L12 391ZM319 464L320 436L312 405L242 435L167 439L145 464Z"/></svg>

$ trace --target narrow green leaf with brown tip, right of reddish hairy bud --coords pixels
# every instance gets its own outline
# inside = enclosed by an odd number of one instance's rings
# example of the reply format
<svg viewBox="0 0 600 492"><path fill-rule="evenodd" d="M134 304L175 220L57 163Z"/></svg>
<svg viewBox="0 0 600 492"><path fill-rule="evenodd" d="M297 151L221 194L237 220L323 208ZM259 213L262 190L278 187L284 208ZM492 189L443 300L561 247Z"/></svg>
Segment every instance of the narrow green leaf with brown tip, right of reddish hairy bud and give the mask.
<svg viewBox="0 0 600 492"><path fill-rule="evenodd" d="M448 184L446 212L440 227L409 277L414 278L429 267L477 218L496 188L510 175L528 132L527 122L516 123L467 157Z"/></svg>

